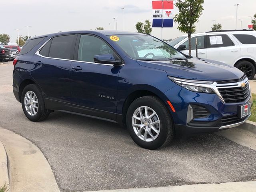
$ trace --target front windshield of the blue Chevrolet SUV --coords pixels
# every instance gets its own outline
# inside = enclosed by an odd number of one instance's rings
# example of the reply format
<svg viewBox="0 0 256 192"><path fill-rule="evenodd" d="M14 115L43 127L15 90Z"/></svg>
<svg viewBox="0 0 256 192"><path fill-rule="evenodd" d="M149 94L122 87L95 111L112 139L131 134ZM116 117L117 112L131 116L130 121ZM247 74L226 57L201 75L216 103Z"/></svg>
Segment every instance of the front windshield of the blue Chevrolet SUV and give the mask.
<svg viewBox="0 0 256 192"><path fill-rule="evenodd" d="M111 37L111 36L110 36ZM118 35L115 42L131 58L136 60L168 60L186 58L168 44L146 35Z"/></svg>

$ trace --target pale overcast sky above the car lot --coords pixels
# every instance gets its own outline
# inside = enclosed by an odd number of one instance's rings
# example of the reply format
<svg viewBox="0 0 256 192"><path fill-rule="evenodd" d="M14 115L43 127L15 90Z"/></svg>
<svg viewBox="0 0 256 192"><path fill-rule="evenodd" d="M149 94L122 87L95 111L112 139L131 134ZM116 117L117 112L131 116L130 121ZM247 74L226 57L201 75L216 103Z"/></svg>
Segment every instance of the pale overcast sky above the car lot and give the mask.
<svg viewBox="0 0 256 192"><path fill-rule="evenodd" d="M210 31L215 23L222 24L223 30L235 29L236 6L238 18L242 20L242 29L250 24L250 18L256 13L256 0L204 0L204 11L200 22L196 24L196 32ZM122 7L124 14L122 14ZM174 6L174 14L178 9ZM59 31L90 30L98 26L114 30L114 17L118 30L136 32L135 24L149 19L152 23L151 0L1 0L0 14L6 15L0 25L0 34L11 36L10 42L15 42L17 31L26 36L29 28L30 36L39 36ZM3 18L3 17L2 17ZM174 39L183 33L177 29L163 28L163 39ZM240 29L240 20L237 22ZM161 37L161 28L153 28L153 36Z"/></svg>

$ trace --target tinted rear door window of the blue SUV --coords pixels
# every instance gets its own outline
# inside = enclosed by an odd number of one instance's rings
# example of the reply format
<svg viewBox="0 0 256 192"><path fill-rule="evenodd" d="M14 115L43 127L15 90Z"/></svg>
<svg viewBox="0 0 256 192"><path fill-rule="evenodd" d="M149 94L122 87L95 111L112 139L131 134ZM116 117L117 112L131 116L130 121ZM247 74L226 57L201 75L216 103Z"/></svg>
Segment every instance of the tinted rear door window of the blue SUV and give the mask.
<svg viewBox="0 0 256 192"><path fill-rule="evenodd" d="M49 57L60 59L72 59L74 52L75 35L64 35L52 38Z"/></svg>

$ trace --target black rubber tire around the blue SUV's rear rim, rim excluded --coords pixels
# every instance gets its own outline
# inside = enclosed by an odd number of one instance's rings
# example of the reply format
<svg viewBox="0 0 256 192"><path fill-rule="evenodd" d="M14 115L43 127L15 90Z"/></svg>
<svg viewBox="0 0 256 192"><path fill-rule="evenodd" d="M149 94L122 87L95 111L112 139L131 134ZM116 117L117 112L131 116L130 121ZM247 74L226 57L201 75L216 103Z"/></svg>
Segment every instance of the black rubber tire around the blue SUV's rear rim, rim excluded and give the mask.
<svg viewBox="0 0 256 192"><path fill-rule="evenodd" d="M34 92L38 100L38 110L34 116L30 115L27 112L24 104L25 94L28 91ZM45 108L44 98L42 96L41 90L38 88L38 86L36 86L36 84L29 84L23 89L22 95L21 95L21 104L22 104L22 109L24 114L31 121L38 122L38 121L45 120L50 114L50 112Z"/></svg>

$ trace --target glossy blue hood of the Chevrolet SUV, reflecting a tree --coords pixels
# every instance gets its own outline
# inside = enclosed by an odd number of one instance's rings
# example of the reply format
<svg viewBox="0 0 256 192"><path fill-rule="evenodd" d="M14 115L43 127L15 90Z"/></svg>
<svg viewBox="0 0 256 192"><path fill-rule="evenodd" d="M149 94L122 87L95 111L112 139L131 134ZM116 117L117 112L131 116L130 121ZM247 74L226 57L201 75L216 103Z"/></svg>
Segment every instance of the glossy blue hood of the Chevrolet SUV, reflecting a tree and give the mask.
<svg viewBox="0 0 256 192"><path fill-rule="evenodd" d="M164 70L168 76L191 80L236 80L244 75L242 71L235 67L207 59L189 58L170 61L137 60L137 62L145 67Z"/></svg>

